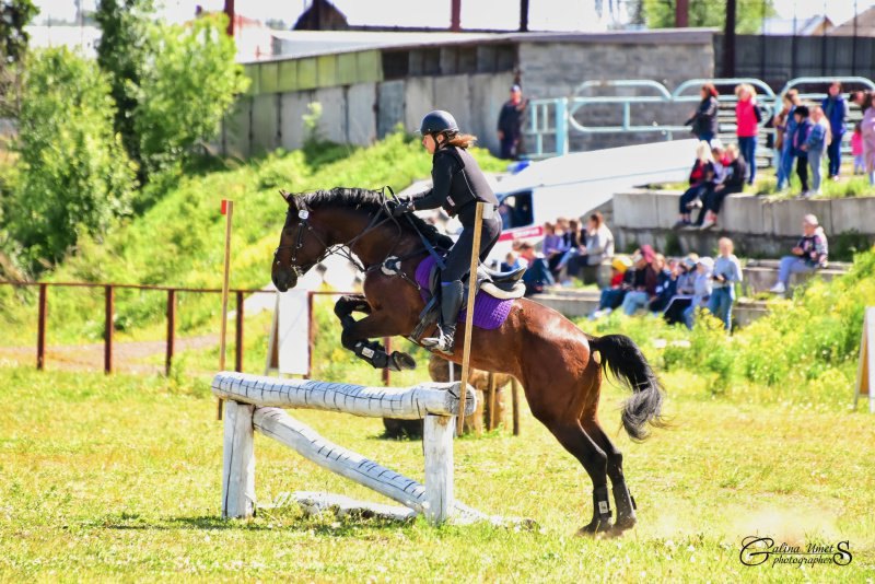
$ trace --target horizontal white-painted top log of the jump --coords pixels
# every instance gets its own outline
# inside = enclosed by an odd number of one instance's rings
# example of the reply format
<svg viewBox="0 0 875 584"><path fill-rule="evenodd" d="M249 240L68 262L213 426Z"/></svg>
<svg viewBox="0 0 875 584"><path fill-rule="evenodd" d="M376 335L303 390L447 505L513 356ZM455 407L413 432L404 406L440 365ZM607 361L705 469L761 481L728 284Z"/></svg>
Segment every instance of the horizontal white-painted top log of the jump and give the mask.
<svg viewBox="0 0 875 584"><path fill-rule="evenodd" d="M366 387L315 379L282 379L222 372L213 377L220 398L279 408L337 411L368 418L421 420L427 413L455 416L459 383L421 383L412 387ZM468 387L465 412L474 412L476 397Z"/></svg>

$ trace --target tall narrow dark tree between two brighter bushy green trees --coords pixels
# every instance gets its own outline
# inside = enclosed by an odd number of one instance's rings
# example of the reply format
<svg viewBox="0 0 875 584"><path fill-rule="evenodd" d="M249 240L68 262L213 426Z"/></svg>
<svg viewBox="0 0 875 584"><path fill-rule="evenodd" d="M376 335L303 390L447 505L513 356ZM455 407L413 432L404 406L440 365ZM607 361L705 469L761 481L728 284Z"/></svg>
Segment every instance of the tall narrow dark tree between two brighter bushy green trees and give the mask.
<svg viewBox="0 0 875 584"><path fill-rule="evenodd" d="M100 0L94 14L101 27L97 63L109 79L116 103L115 129L141 168L140 140L133 128L137 97L131 87L140 84L142 63L151 54L148 33L153 11L152 0Z"/></svg>

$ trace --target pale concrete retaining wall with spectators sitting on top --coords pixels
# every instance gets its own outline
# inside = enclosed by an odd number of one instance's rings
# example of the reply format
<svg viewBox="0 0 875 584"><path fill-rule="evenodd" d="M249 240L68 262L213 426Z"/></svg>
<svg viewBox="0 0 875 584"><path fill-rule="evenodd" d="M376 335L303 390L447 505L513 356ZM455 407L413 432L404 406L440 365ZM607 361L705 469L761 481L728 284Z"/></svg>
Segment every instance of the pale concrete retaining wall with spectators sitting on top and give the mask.
<svg viewBox="0 0 875 584"><path fill-rule="evenodd" d="M675 231L679 191L631 191L614 196L610 227L618 249L651 244L657 249L679 245L682 253L713 254L718 240L728 236L736 254L748 257L786 255L802 235L802 218L817 215L827 238L858 232L875 243L875 197L785 200L767 202L758 197L732 195L723 202L719 229Z"/></svg>

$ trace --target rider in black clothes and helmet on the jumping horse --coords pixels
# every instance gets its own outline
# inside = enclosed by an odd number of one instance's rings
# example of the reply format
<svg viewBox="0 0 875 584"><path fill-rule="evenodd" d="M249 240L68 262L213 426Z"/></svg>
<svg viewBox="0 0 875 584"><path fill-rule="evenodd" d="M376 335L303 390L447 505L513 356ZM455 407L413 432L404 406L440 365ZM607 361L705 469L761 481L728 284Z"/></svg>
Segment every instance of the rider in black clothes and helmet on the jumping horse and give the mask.
<svg viewBox="0 0 875 584"><path fill-rule="evenodd" d="M476 202L482 201L492 206L492 213L485 213L480 238L480 260L486 259L489 250L501 235L501 218L494 212L498 199L489 187L482 171L468 153L468 148L476 138L459 133L455 118L441 109L430 112L422 118L419 132L422 145L432 154L432 188L402 200L393 211L395 217L419 209L436 209L443 207L450 217L458 217L463 232L444 259L445 267L441 271L441 322L436 337L422 339L424 347L434 348L443 353L453 354L456 335L456 322L462 309L462 296L465 287L462 279L470 268L471 249L474 247L474 224Z"/></svg>

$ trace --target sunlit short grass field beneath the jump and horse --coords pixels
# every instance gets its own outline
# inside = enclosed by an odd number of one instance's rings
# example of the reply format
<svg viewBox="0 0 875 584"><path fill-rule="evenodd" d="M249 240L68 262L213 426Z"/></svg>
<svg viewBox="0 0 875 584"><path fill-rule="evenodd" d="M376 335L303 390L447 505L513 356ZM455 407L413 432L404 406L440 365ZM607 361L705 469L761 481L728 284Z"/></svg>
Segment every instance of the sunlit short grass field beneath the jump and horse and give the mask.
<svg viewBox="0 0 875 584"><path fill-rule="evenodd" d="M525 410L523 433L456 442L456 493L536 530L305 518L293 509L220 517L222 424L208 379L0 369L0 580L818 581L875 579L875 418L844 406L715 398L665 377L670 430L618 439L639 526L575 537L590 481ZM851 394L847 387L831 392ZM603 398L609 433L622 392ZM327 437L412 478L420 444L380 439L378 420L300 411ZM377 495L256 439L256 490ZM849 565L746 567L742 540L847 540Z"/></svg>

